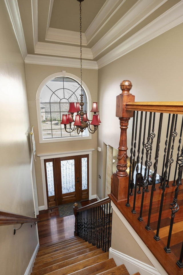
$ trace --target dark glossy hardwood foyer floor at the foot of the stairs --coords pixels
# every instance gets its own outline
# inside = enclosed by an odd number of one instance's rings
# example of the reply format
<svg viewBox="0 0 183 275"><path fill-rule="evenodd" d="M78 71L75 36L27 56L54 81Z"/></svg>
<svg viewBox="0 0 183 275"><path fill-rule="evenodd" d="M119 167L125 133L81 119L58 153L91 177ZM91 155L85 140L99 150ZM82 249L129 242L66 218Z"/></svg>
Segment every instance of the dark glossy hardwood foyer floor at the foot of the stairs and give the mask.
<svg viewBox="0 0 183 275"><path fill-rule="evenodd" d="M97 200L83 201L81 205L85 206L95 201ZM60 218L58 207L39 211L37 218L40 220L37 223L40 245L67 239L74 235L75 216Z"/></svg>

